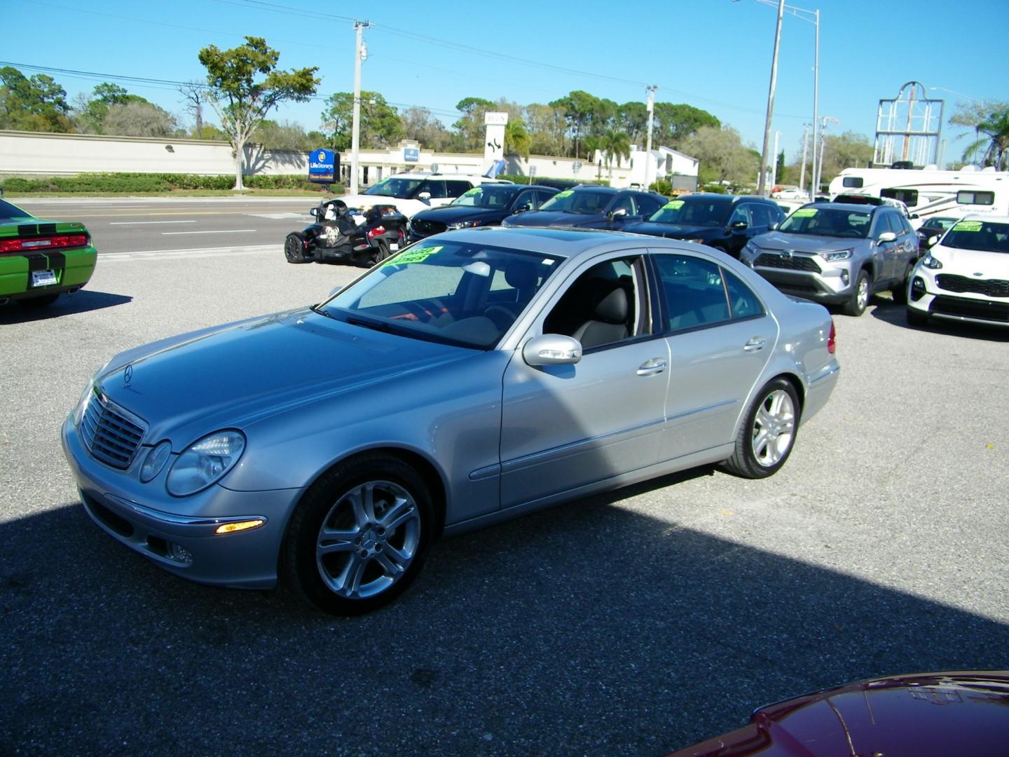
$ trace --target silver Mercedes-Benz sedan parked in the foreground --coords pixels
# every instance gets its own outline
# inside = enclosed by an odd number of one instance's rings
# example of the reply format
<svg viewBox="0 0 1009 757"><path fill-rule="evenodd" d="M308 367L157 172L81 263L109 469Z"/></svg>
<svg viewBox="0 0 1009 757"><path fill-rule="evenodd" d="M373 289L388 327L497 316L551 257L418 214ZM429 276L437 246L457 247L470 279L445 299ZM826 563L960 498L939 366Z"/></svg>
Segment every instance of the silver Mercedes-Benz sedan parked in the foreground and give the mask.
<svg viewBox="0 0 1009 757"><path fill-rule="evenodd" d="M697 465L771 475L838 370L826 310L710 248L477 228L119 353L63 441L91 518L156 564L350 615L443 534Z"/></svg>

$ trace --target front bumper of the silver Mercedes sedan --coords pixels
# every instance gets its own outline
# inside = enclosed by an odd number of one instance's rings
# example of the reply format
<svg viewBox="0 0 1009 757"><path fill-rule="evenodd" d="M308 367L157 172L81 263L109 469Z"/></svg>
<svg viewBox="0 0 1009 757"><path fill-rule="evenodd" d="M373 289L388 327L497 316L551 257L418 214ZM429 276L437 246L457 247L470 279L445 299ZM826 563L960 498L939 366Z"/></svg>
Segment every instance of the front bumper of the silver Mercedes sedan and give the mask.
<svg viewBox="0 0 1009 757"><path fill-rule="evenodd" d="M288 518L304 490L234 492L215 484L176 498L164 489L164 470L149 483L140 482L142 452L126 470L95 460L70 418L63 428L63 447L85 511L114 539L159 567L200 583L241 588L276 583ZM254 518L263 525L215 533L221 524Z"/></svg>

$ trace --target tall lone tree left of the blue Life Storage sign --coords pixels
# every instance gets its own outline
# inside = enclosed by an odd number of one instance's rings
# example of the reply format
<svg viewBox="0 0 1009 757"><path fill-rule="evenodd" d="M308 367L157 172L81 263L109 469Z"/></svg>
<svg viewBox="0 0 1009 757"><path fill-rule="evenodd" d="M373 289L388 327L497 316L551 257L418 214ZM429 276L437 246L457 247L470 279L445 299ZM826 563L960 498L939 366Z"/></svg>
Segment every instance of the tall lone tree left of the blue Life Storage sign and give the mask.
<svg viewBox="0 0 1009 757"><path fill-rule="evenodd" d="M244 188L245 143L255 127L279 103L307 101L320 83L315 76L318 68L277 71L279 57L257 36L246 36L244 44L228 50L214 44L200 50L200 63L207 69L208 100L235 150L236 190Z"/></svg>

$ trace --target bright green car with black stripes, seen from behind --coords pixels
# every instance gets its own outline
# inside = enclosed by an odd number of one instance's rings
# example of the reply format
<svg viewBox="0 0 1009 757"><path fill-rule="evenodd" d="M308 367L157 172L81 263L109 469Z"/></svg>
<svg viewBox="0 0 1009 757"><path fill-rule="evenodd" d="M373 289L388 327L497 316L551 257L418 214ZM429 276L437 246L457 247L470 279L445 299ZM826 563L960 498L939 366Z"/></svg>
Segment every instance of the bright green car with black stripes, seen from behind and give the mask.
<svg viewBox="0 0 1009 757"><path fill-rule="evenodd" d="M51 305L86 285L97 259L83 223L35 218L0 200L0 305Z"/></svg>

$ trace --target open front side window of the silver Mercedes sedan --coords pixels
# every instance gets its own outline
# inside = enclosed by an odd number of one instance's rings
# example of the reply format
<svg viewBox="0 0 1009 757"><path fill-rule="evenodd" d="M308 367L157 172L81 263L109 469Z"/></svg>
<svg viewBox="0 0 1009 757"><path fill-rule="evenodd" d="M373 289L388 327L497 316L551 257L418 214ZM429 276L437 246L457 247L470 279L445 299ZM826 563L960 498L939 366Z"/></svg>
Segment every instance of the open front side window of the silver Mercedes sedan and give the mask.
<svg viewBox="0 0 1009 757"><path fill-rule="evenodd" d="M641 257L606 260L579 276L543 322L546 334L573 336L582 349L624 341L651 332L639 307Z"/></svg>

